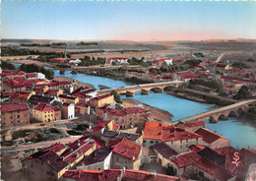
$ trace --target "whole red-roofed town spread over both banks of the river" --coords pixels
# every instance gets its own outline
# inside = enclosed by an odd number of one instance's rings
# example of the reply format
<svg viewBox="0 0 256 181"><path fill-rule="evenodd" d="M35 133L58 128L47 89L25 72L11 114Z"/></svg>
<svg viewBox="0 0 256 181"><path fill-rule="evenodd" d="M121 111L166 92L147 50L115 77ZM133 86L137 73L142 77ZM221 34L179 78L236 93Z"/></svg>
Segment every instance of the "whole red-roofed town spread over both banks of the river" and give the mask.
<svg viewBox="0 0 256 181"><path fill-rule="evenodd" d="M20 170L22 180L244 180L256 151L231 147L206 124L207 118L218 122L245 112L255 115L255 74L230 64L232 55L143 58L149 66L139 68L129 68L135 58L111 57L100 64L101 70L91 71L114 72L122 66L125 79L144 84L105 90L75 79L46 79L40 72L22 71L22 66L2 70L2 160ZM2 57L3 62L12 63L10 59ZM85 60L53 58L49 63L56 61L75 63L73 71L83 72L79 64ZM138 89L144 94L189 89L225 97L228 103L208 116L163 121L152 118L143 104L122 101L120 94L134 96ZM198 95L184 96L199 101ZM9 148L18 154L10 154ZM239 161L233 162L236 155Z"/></svg>

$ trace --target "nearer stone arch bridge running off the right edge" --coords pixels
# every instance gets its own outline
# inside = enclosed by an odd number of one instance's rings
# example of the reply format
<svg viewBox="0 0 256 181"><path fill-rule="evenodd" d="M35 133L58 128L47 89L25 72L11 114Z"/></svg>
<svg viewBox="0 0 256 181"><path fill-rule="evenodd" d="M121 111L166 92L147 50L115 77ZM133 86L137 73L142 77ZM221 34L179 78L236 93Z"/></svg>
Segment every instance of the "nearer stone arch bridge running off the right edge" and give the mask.
<svg viewBox="0 0 256 181"><path fill-rule="evenodd" d="M219 119L227 119L229 116L237 116L240 113L247 112L250 108L256 107L256 99L243 100L231 105L227 105L212 111L204 112L201 114L197 114L191 117L187 117L178 121L173 122L176 123L189 123L195 121L205 121L210 118L212 122L218 122Z"/></svg>

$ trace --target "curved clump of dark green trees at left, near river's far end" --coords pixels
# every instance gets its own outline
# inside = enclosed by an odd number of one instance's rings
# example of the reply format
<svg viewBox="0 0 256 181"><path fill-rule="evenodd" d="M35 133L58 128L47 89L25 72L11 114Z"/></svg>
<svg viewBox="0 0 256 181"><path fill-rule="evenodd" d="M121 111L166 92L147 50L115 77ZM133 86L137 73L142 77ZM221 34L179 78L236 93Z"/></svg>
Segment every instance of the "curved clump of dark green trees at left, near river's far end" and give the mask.
<svg viewBox="0 0 256 181"><path fill-rule="evenodd" d="M20 66L20 70L26 73L39 72L45 75L45 78L48 80L52 80L54 78L54 72L49 69L45 69L43 66L39 66L36 64L22 64Z"/></svg>

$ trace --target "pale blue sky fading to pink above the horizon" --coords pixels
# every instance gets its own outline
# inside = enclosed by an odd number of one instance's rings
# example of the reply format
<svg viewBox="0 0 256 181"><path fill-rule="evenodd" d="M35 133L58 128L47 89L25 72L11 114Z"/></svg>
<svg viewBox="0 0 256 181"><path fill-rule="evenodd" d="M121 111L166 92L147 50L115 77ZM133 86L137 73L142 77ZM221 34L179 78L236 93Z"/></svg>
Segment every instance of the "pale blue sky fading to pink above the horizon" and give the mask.
<svg viewBox="0 0 256 181"><path fill-rule="evenodd" d="M256 1L7 1L1 37L66 40L256 39Z"/></svg>

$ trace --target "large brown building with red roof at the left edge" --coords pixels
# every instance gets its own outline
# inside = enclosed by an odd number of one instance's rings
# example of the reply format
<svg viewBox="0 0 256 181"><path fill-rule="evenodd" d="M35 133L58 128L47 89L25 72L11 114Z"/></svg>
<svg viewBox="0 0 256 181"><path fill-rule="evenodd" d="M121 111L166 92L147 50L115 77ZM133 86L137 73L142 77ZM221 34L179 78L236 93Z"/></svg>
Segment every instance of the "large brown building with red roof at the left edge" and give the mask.
<svg viewBox="0 0 256 181"><path fill-rule="evenodd" d="M30 109L27 103L1 104L1 125L3 127L30 124Z"/></svg>

